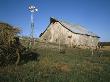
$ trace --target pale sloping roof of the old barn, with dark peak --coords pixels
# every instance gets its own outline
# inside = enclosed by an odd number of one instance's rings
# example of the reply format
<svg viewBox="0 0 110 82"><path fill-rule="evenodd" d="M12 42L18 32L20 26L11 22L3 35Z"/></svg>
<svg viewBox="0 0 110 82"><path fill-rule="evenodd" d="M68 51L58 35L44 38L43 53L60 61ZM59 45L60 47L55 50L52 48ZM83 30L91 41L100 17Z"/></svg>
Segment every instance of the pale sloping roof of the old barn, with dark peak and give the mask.
<svg viewBox="0 0 110 82"><path fill-rule="evenodd" d="M98 37L100 38L98 35L96 35L95 33L93 32L90 32L88 31L87 29L85 29L84 26L81 26L79 24L70 24L66 21L62 21L62 20L58 20L56 18L50 18L50 22L52 21L57 21L59 22L61 25L63 25L66 29L74 32L74 33L77 33L77 34L82 34L82 35L88 35L88 36L94 36L94 37Z"/></svg>

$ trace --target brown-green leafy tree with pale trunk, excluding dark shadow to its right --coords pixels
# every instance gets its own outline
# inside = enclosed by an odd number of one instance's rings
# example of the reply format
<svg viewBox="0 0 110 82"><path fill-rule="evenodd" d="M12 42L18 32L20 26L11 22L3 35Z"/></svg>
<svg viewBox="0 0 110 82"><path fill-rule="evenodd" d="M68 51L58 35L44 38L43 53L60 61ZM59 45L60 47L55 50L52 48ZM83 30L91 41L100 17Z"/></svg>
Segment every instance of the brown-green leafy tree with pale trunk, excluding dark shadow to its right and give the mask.
<svg viewBox="0 0 110 82"><path fill-rule="evenodd" d="M0 65L18 63L19 42L15 37L20 29L7 23L0 23Z"/></svg>

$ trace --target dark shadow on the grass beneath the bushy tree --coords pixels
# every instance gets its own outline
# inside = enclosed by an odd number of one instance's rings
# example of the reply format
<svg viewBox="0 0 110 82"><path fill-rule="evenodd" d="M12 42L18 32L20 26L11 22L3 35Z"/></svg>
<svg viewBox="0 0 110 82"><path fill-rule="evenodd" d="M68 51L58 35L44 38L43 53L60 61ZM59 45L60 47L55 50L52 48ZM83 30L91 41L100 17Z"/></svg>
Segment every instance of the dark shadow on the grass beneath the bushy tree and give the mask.
<svg viewBox="0 0 110 82"><path fill-rule="evenodd" d="M7 56L9 57L7 59ZM3 56L0 54L0 67L6 67L8 65L23 65L30 61L38 61L40 54L33 50L23 50L19 52L19 57L16 53L12 52L12 54L7 54ZM18 63L16 64L16 62Z"/></svg>

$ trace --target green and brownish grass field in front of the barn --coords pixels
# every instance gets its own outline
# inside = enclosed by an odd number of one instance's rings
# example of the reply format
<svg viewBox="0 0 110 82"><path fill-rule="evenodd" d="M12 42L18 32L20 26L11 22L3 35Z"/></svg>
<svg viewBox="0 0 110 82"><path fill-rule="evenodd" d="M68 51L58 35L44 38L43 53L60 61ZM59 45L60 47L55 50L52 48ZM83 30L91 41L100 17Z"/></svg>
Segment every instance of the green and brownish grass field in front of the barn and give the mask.
<svg viewBox="0 0 110 82"><path fill-rule="evenodd" d="M0 67L0 82L110 82L110 51L40 46L37 61Z"/></svg>

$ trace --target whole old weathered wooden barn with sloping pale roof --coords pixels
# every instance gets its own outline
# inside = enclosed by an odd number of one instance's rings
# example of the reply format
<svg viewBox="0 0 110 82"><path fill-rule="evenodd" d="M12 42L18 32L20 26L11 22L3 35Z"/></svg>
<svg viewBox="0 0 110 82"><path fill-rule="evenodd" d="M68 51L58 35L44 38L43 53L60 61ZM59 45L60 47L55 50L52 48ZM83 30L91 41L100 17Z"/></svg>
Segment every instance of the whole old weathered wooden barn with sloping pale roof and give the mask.
<svg viewBox="0 0 110 82"><path fill-rule="evenodd" d="M96 48L99 36L78 24L70 24L55 18L50 18L50 24L40 34L40 41L81 48Z"/></svg>

